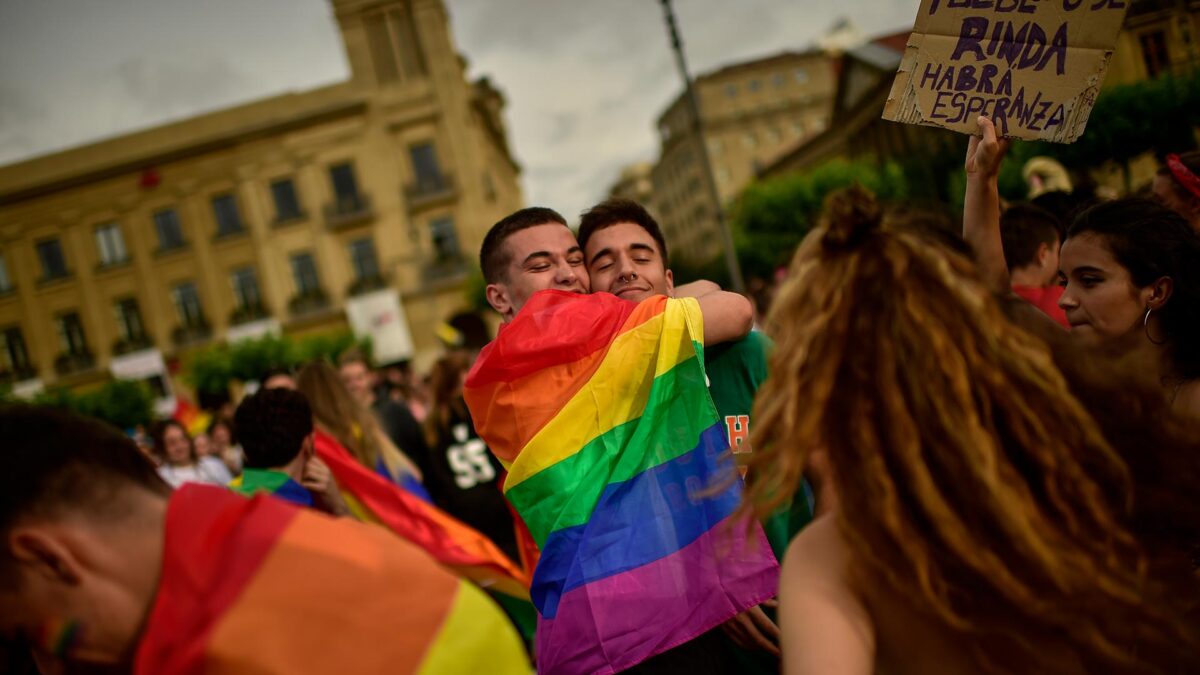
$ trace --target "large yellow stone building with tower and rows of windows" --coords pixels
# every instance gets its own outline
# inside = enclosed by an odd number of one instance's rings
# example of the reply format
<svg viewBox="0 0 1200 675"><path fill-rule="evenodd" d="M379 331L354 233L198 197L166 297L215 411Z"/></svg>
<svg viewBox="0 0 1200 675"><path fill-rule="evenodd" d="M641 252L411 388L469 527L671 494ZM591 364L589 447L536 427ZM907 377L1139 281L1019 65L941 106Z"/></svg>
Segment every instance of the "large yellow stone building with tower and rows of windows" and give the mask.
<svg viewBox="0 0 1200 675"><path fill-rule="evenodd" d="M0 384L348 323L436 356L484 233L522 205L504 98L467 80L442 1L332 10L348 82L0 167Z"/></svg>

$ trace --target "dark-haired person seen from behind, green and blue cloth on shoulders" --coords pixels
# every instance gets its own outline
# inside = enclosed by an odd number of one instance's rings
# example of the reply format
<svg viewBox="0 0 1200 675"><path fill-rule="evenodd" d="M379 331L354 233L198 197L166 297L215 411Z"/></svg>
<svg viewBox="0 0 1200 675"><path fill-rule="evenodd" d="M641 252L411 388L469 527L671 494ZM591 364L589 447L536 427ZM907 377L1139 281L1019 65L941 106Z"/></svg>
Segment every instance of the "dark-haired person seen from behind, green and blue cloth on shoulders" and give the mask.
<svg viewBox="0 0 1200 675"><path fill-rule="evenodd" d="M238 406L245 470L229 486L235 492L266 492L330 515L348 515L337 482L313 450L312 408L293 389L260 389Z"/></svg>

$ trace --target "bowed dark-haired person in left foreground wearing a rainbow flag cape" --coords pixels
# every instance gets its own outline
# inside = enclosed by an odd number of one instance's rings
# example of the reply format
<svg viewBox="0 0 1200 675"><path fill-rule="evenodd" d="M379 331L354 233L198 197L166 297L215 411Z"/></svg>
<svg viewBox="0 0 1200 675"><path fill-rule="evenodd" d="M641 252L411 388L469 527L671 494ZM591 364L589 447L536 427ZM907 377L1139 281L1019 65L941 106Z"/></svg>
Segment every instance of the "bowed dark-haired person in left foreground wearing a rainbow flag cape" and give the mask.
<svg viewBox="0 0 1200 675"><path fill-rule="evenodd" d="M65 411L5 407L0 435L0 634L43 663L529 671L499 608L384 530L265 495L172 492L132 441Z"/></svg>

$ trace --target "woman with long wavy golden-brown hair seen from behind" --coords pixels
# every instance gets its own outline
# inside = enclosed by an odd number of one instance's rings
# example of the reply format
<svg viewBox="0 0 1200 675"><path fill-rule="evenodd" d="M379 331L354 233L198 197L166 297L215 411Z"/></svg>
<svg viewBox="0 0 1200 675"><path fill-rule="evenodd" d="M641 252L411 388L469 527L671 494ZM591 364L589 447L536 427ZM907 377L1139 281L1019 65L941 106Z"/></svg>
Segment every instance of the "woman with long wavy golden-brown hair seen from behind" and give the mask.
<svg viewBox="0 0 1200 675"><path fill-rule="evenodd" d="M1110 444L966 256L883 220L834 195L768 318L748 502L785 503L815 452L838 496L784 561L785 671L1196 671L1175 555L1195 530L1138 518L1181 502L1144 498L1153 462Z"/></svg>

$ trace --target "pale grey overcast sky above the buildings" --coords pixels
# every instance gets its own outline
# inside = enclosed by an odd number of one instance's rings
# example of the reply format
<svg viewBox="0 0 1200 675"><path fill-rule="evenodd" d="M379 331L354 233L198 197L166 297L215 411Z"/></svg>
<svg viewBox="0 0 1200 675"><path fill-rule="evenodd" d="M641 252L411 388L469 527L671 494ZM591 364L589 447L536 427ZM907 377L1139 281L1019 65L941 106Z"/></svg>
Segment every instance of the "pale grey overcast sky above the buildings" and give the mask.
<svg viewBox="0 0 1200 675"><path fill-rule="evenodd" d="M526 201L575 220L654 160L678 95L655 0L448 0L470 74L508 97ZM912 26L919 0L676 0L692 73L803 49L839 17ZM0 163L346 79L329 0L0 0Z"/></svg>

